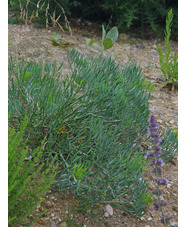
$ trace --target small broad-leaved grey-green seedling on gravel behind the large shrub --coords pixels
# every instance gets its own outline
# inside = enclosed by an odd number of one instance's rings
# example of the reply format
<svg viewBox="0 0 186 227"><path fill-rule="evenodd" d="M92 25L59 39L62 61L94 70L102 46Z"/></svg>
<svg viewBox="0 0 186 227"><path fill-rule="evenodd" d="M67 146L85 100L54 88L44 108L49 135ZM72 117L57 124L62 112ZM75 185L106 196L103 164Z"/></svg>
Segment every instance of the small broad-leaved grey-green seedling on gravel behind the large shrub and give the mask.
<svg viewBox="0 0 186 227"><path fill-rule="evenodd" d="M118 39L119 32L117 27L113 27L110 29L110 31L106 34L105 27L102 25L102 49L103 50L108 50L111 48L116 40ZM88 46L92 46L95 43L95 40L91 39L86 39L86 44Z"/></svg>

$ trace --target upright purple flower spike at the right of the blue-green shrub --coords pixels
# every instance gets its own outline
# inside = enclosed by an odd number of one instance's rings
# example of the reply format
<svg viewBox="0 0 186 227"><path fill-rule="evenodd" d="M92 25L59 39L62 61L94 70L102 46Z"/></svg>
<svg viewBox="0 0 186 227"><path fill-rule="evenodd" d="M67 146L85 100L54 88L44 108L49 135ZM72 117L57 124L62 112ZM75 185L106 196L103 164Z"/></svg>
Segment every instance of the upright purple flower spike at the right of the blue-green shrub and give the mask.
<svg viewBox="0 0 186 227"><path fill-rule="evenodd" d="M150 132L151 143L152 143L152 150L148 151L146 156L151 159L152 161L152 169L150 172L154 175L153 181L156 184L156 189L152 191L152 194L155 196L154 200L154 207L151 208L151 211L160 210L162 213L161 222L167 227L169 220L172 218L172 215L167 216L163 209L163 206L166 206L167 203L162 197L163 191L161 190L162 185L166 185L168 180L166 177L162 177L162 168L161 166L164 164L163 159L161 158L162 154L162 147L160 139L160 135L158 132L158 123L155 120L155 116L151 115L148 120L150 127L148 131Z"/></svg>

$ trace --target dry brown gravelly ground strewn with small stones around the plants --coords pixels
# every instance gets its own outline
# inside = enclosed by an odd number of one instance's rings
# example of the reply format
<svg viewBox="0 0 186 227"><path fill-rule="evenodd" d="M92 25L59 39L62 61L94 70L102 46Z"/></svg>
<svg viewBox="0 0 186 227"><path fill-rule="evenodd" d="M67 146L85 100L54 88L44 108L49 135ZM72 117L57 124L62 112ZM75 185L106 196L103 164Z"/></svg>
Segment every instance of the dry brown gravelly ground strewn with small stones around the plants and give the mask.
<svg viewBox="0 0 186 227"><path fill-rule="evenodd" d="M52 38L52 32L55 31L62 35L62 39L74 43L73 46L76 50L83 53L86 57L91 54L96 55L102 53L97 47L86 46L85 39L95 39L96 43L101 40L101 29L99 30L95 26L90 26L86 23L76 24L72 28L72 36L66 33L62 33L58 29L50 28L38 29L32 25L9 25L9 56L13 55L17 59L27 59L38 62L40 60L44 62L57 61L58 64L64 62L62 74L70 73L69 65L67 61L67 53L72 47L65 49L52 46L49 39ZM99 31L99 33L98 33ZM100 34L100 36L99 36ZM139 38L131 38L127 35L120 35L119 40L115 43L114 47L106 52L103 52L103 56L112 56L122 66L125 66L131 59L141 64L143 74L147 80L151 81L157 88L157 91L152 93L149 101L150 110L154 113L160 124L160 129L167 126L171 128L178 128L178 92L170 91L167 88L161 88L161 79L159 75L159 58L157 53L157 44L159 42L155 39L142 40ZM160 42L164 46L164 42ZM177 42L172 42L172 50L178 51ZM148 175L148 174L147 174ZM164 190L164 199L168 205L166 210L173 215L171 223L178 221L178 161L177 158L167 163L163 167L163 176L168 177L170 181L169 186ZM149 188L153 189L153 184L149 184ZM33 227L39 226L77 226L73 224L73 221L79 223L80 226L127 226L127 227L161 227L160 212L147 211L147 213L141 218L137 219L131 215L126 215L123 210L113 210L113 215L105 217L105 206L100 206L102 212L99 215L101 224L96 224L86 215L76 212L76 200L74 196L69 193L56 193L50 194L46 197L46 200L42 203L41 207L38 207L35 213L41 210L47 210L45 215L41 217L37 223L33 224ZM34 216L34 215L33 215ZM30 216L30 219L33 217ZM172 224L173 226L173 224ZM175 225L177 226L177 225Z"/></svg>

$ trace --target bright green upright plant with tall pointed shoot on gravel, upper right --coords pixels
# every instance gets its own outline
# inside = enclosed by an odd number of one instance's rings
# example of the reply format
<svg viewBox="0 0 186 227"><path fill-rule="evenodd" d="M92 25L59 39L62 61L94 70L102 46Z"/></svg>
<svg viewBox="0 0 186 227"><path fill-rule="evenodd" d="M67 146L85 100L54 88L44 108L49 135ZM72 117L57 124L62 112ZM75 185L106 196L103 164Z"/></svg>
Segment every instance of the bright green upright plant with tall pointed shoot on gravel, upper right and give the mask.
<svg viewBox="0 0 186 227"><path fill-rule="evenodd" d="M158 45L158 54L159 54L159 62L160 69L163 73L163 77L165 77L165 81L163 86L171 85L173 87L178 86L178 55L171 53L171 26L173 20L172 9L168 13L168 17L166 19L166 32L165 32L165 44L166 44L166 52L163 54L161 45Z"/></svg>

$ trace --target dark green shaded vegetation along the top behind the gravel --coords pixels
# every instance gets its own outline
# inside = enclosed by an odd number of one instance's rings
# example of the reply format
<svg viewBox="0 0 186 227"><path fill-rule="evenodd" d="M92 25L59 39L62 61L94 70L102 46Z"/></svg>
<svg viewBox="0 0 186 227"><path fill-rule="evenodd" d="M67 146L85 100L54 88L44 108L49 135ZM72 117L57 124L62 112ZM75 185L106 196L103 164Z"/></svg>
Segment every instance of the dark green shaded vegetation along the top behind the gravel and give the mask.
<svg viewBox="0 0 186 227"><path fill-rule="evenodd" d="M46 12L60 20L65 21L65 14L70 17L81 17L89 19L99 24L112 22L112 26L117 26L120 33L132 31L144 36L149 29L154 31L156 36L163 34L165 19L168 11L172 8L174 19L172 35L178 35L178 1L177 0L9 0L9 5L28 15L38 13L39 23L45 24ZM49 7L48 7L49 6ZM48 20L51 22L51 18Z"/></svg>

